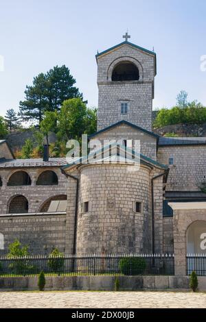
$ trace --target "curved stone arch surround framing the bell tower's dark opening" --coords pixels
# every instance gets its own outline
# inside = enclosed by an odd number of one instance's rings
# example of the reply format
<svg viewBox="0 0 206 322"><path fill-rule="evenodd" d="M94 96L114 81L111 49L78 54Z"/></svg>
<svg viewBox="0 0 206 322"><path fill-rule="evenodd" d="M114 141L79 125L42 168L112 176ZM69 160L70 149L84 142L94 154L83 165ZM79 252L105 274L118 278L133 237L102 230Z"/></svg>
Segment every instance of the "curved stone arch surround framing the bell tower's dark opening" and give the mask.
<svg viewBox="0 0 206 322"><path fill-rule="evenodd" d="M139 81L143 81L144 79L144 71L143 71L143 67L141 65L141 63L136 60L135 58L129 57L129 56L124 56L124 57L120 57L117 58L116 60L114 60L110 66L108 67L108 71L107 71L107 79L109 82L112 81L112 75L113 75L113 71L114 69L119 65L119 64L133 64L139 71Z"/></svg>

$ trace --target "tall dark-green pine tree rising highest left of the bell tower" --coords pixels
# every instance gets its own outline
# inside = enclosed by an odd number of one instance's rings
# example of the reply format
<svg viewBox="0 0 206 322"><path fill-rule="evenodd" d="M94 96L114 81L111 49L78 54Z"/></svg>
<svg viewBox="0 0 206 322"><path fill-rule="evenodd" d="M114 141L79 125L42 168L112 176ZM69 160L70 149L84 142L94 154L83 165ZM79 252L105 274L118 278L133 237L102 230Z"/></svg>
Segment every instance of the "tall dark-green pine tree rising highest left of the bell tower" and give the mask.
<svg viewBox="0 0 206 322"><path fill-rule="evenodd" d="M19 103L19 115L23 121L41 123L45 111L59 110L66 99L82 99L82 93L74 84L76 80L65 65L39 74L34 77L32 86L26 86L25 101Z"/></svg>

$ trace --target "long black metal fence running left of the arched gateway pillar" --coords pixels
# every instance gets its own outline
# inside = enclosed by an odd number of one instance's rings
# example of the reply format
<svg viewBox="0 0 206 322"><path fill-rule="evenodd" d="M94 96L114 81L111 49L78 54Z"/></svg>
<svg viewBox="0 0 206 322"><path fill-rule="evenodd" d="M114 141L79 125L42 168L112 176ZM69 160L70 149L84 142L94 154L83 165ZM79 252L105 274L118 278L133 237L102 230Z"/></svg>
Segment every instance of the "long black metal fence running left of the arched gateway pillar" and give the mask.
<svg viewBox="0 0 206 322"><path fill-rule="evenodd" d="M1 276L38 275L174 275L173 255L112 254L0 258Z"/></svg>

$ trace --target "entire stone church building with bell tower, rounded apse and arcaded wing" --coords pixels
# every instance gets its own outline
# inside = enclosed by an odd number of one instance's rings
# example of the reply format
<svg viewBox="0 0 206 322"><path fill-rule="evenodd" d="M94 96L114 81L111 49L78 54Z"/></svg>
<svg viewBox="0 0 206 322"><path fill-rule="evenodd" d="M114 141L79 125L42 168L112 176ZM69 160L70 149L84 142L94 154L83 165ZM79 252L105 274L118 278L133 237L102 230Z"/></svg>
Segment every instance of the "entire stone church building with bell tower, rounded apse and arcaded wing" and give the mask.
<svg viewBox="0 0 206 322"><path fill-rule="evenodd" d="M139 167L110 160L15 160L0 142L0 253L18 238L32 253L206 253L206 138L152 132L156 54L126 40L96 55L98 132L89 144L140 147ZM117 151L117 149L116 149ZM113 159L116 160L116 159ZM105 162L106 161L106 162Z"/></svg>

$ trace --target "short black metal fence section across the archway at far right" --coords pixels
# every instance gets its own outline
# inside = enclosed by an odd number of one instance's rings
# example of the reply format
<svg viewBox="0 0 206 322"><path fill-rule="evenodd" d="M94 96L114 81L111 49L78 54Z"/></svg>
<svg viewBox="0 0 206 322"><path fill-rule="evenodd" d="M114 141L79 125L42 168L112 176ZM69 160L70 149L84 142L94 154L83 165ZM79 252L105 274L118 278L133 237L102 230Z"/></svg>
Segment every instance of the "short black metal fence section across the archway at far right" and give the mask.
<svg viewBox="0 0 206 322"><path fill-rule="evenodd" d="M206 276L206 254L187 254L187 275Z"/></svg>

